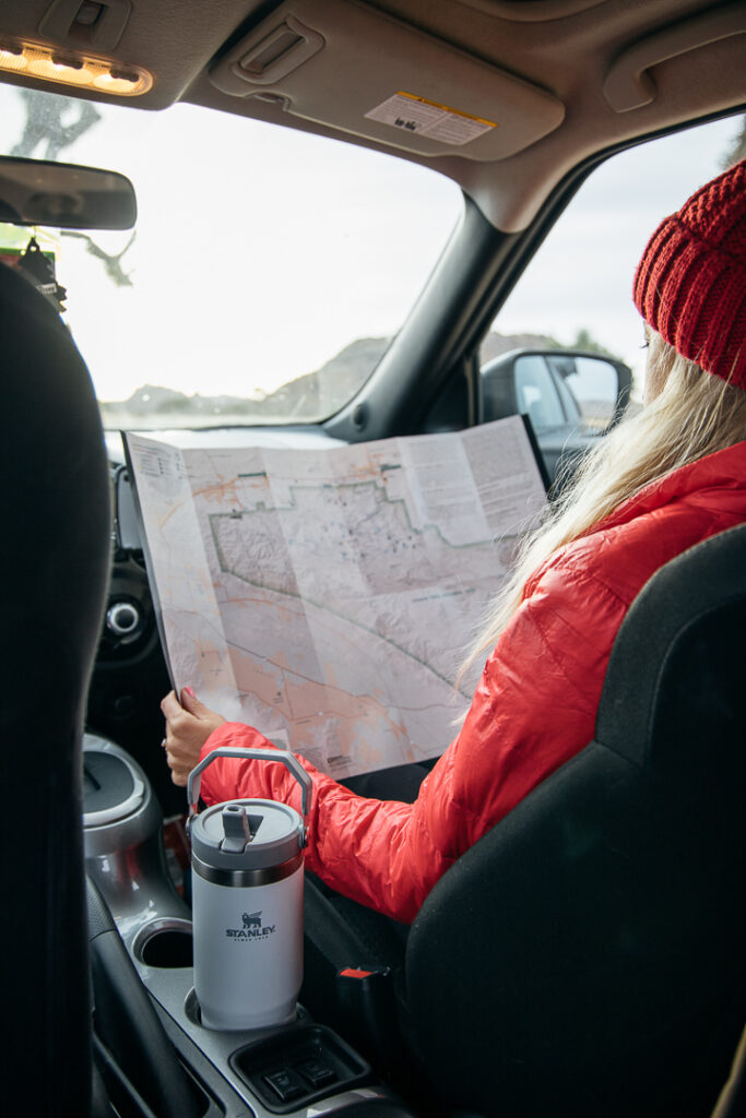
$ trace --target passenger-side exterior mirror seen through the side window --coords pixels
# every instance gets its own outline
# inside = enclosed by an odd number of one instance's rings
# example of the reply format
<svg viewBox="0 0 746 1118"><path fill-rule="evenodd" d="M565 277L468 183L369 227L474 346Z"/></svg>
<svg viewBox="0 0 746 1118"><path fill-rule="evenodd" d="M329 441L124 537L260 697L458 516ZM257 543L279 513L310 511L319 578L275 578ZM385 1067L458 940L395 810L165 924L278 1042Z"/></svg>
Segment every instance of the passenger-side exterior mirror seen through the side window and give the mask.
<svg viewBox="0 0 746 1118"><path fill-rule="evenodd" d="M632 370L579 350L512 350L480 370L480 420L528 415L537 435L606 434L624 414Z"/></svg>

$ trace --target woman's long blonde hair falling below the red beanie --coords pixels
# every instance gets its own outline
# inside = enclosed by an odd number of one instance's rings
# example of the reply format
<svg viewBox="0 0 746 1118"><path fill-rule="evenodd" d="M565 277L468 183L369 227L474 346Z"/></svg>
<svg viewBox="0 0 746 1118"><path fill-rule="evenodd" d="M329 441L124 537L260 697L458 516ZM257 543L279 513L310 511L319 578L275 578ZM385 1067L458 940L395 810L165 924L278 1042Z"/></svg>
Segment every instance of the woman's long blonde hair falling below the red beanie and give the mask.
<svg viewBox="0 0 746 1118"><path fill-rule="evenodd" d="M746 391L705 372L650 331L649 376L658 396L583 458L544 523L523 540L513 574L490 607L459 679L498 637L518 608L532 572L652 482L746 438ZM560 479L561 482L561 479Z"/></svg>

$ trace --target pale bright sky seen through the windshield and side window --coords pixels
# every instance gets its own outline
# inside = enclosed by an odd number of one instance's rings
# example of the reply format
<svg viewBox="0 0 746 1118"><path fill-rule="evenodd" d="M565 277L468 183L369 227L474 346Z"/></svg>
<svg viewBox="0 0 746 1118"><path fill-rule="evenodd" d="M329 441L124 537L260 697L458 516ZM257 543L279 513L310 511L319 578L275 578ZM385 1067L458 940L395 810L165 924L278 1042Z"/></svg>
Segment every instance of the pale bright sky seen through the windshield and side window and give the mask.
<svg viewBox="0 0 746 1118"><path fill-rule="evenodd" d="M136 237L121 262L132 285L115 286L79 240L56 248L65 318L102 400L145 383L267 392L356 338L393 334L462 211L450 180L376 152L190 105L98 108L60 159L132 179ZM18 91L1 87L0 150L23 119ZM720 170L737 126L667 138L596 171L494 329L570 343L585 328L640 373L635 264L661 218ZM110 253L129 238L95 235Z"/></svg>

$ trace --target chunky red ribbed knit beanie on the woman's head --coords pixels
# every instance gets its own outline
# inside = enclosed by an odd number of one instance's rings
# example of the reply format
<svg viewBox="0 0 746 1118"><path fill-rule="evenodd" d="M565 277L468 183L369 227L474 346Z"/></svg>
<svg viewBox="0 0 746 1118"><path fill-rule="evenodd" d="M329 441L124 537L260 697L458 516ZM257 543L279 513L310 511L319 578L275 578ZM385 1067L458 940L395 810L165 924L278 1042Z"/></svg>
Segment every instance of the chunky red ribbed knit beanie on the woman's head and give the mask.
<svg viewBox="0 0 746 1118"><path fill-rule="evenodd" d="M746 389L746 160L658 227L634 302L682 357Z"/></svg>

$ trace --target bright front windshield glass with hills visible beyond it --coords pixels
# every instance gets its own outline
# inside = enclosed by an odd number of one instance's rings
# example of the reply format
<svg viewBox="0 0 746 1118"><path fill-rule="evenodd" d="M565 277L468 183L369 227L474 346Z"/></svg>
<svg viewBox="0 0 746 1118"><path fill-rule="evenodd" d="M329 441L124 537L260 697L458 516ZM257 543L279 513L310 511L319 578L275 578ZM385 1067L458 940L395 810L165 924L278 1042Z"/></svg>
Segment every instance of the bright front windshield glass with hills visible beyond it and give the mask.
<svg viewBox="0 0 746 1118"><path fill-rule="evenodd" d="M332 415L462 208L428 169L193 105L148 113L2 86L0 151L134 183L134 230L37 230L113 428ZM30 233L0 225L0 252Z"/></svg>

